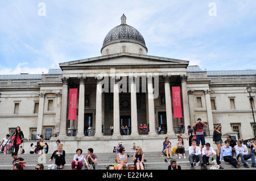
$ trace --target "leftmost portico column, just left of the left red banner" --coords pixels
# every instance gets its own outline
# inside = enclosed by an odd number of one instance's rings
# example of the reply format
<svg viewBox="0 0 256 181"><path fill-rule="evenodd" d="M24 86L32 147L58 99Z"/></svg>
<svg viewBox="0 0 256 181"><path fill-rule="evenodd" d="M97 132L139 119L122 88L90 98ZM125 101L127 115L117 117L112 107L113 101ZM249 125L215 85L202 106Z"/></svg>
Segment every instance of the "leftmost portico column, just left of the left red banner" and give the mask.
<svg viewBox="0 0 256 181"><path fill-rule="evenodd" d="M61 113L60 113L60 134L59 137L66 137L66 123L67 123L67 108L68 108L68 80L69 78L63 77L61 81L62 87L62 99L61 99Z"/></svg>

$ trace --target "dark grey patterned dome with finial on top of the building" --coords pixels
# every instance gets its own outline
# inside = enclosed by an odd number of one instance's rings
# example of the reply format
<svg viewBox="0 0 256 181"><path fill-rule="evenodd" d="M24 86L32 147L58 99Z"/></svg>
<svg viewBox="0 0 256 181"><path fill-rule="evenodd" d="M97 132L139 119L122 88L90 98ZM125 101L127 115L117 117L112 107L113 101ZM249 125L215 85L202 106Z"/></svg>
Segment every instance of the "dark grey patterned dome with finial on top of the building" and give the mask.
<svg viewBox="0 0 256 181"><path fill-rule="evenodd" d="M134 27L126 24L126 16L124 14L121 17L121 24L114 27L106 35L101 50L110 44L119 42L136 43L142 45L147 50L143 36Z"/></svg>

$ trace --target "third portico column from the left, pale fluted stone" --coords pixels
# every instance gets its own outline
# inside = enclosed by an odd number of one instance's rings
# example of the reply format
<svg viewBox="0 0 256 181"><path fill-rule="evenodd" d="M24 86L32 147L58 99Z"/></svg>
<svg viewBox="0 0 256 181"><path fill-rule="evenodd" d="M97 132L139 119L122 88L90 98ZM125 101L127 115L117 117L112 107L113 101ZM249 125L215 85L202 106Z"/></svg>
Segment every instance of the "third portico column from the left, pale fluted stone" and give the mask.
<svg viewBox="0 0 256 181"><path fill-rule="evenodd" d="M102 136L101 124L102 124L102 77L97 78L96 88L96 126L94 136Z"/></svg>

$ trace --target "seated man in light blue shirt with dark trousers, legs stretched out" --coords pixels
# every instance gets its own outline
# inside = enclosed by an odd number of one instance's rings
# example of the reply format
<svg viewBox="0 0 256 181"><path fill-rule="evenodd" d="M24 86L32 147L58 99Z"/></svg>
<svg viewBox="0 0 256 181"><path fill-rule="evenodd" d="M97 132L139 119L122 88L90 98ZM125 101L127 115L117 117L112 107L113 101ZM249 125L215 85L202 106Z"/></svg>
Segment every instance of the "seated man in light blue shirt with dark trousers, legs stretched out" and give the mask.
<svg viewBox="0 0 256 181"><path fill-rule="evenodd" d="M224 158L225 162L231 163L231 165L238 169L243 165L243 163L241 165L238 165L237 159L232 157L232 147L229 146L229 144L230 141L226 140L225 145L221 146L220 161L222 161L222 158Z"/></svg>

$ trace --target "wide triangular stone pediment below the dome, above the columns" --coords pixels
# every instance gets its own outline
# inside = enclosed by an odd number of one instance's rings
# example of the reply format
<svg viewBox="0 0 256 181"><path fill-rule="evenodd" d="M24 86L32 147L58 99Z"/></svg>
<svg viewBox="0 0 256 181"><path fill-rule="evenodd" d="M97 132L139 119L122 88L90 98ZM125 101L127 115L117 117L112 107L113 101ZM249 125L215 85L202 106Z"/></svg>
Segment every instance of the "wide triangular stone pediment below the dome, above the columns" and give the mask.
<svg viewBox="0 0 256 181"><path fill-rule="evenodd" d="M75 69L81 67L91 67L91 66L129 66L129 65L176 65L176 66L185 66L187 67L189 61L185 60L177 60L173 58L164 58L164 57L156 57L156 56L148 56L144 54L134 54L134 53L117 53L110 54L107 56L93 57L93 58L85 58L82 60L69 61L60 63L60 68L67 69L68 67Z"/></svg>

